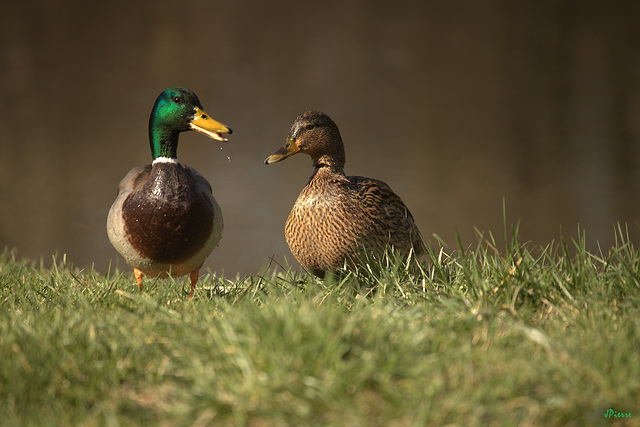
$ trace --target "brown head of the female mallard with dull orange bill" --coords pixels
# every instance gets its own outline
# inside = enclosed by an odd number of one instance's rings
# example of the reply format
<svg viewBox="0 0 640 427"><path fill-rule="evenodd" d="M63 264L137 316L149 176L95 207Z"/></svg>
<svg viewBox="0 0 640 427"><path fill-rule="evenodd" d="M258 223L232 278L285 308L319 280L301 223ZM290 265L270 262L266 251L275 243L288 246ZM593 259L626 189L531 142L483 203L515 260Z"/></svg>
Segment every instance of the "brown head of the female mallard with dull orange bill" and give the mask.
<svg viewBox="0 0 640 427"><path fill-rule="evenodd" d="M320 111L309 110L296 117L285 144L267 157L264 163L279 162L296 153L311 156L316 167L344 167L344 144L338 126Z"/></svg>

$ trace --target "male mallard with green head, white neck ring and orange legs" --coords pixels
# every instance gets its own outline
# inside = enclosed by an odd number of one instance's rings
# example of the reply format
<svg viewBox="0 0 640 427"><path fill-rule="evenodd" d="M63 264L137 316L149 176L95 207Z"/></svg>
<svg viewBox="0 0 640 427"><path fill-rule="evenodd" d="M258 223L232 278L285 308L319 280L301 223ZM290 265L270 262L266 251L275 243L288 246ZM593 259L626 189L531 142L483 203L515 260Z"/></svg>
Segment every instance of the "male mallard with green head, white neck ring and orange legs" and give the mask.
<svg viewBox="0 0 640 427"><path fill-rule="evenodd" d="M165 90L149 119L153 163L131 169L120 181L107 218L107 234L133 267L140 290L143 274L190 274L191 299L199 269L218 245L223 224L211 185L176 157L178 136L188 130L218 141L227 141L221 134L232 132L205 113L190 90Z"/></svg>

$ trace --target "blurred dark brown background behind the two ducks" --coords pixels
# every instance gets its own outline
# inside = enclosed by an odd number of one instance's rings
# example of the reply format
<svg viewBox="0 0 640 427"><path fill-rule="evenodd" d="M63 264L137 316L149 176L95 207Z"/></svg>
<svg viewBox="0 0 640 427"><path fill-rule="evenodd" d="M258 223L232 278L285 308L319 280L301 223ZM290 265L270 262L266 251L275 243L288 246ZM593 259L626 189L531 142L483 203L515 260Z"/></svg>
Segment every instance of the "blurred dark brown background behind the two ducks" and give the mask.
<svg viewBox="0 0 640 427"><path fill-rule="evenodd" d="M309 108L339 125L349 174L387 181L424 237L455 229L547 244L578 224L592 248L638 236L640 2L57 0L0 6L0 246L127 268L105 221L150 162L149 112L195 91L234 129L183 134L225 232L227 276L293 260L284 221L307 156L265 166Z"/></svg>

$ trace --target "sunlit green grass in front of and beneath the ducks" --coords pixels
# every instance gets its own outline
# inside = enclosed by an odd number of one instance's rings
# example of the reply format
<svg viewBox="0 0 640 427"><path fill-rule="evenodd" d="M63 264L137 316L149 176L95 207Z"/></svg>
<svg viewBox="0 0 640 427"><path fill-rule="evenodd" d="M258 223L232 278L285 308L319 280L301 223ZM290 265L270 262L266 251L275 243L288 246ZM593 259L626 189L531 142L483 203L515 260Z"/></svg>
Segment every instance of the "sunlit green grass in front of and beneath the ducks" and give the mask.
<svg viewBox="0 0 640 427"><path fill-rule="evenodd" d="M3 425L640 425L640 253L478 233L321 281L0 254ZM631 413L608 419L607 409Z"/></svg>

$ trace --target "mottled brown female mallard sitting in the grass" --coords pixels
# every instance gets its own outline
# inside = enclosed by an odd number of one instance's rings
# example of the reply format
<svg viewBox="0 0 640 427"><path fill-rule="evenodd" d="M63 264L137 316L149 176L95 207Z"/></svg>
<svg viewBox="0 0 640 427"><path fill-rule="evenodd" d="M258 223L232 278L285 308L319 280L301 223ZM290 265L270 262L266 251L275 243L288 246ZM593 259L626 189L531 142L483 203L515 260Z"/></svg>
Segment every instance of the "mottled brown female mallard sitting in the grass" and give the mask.
<svg viewBox="0 0 640 427"><path fill-rule="evenodd" d="M287 218L285 237L298 262L317 276L356 261L359 249L380 255L387 245L402 254L424 251L409 209L384 182L344 173L344 145L326 114L296 117L285 145L265 160L306 153L315 168Z"/></svg>

